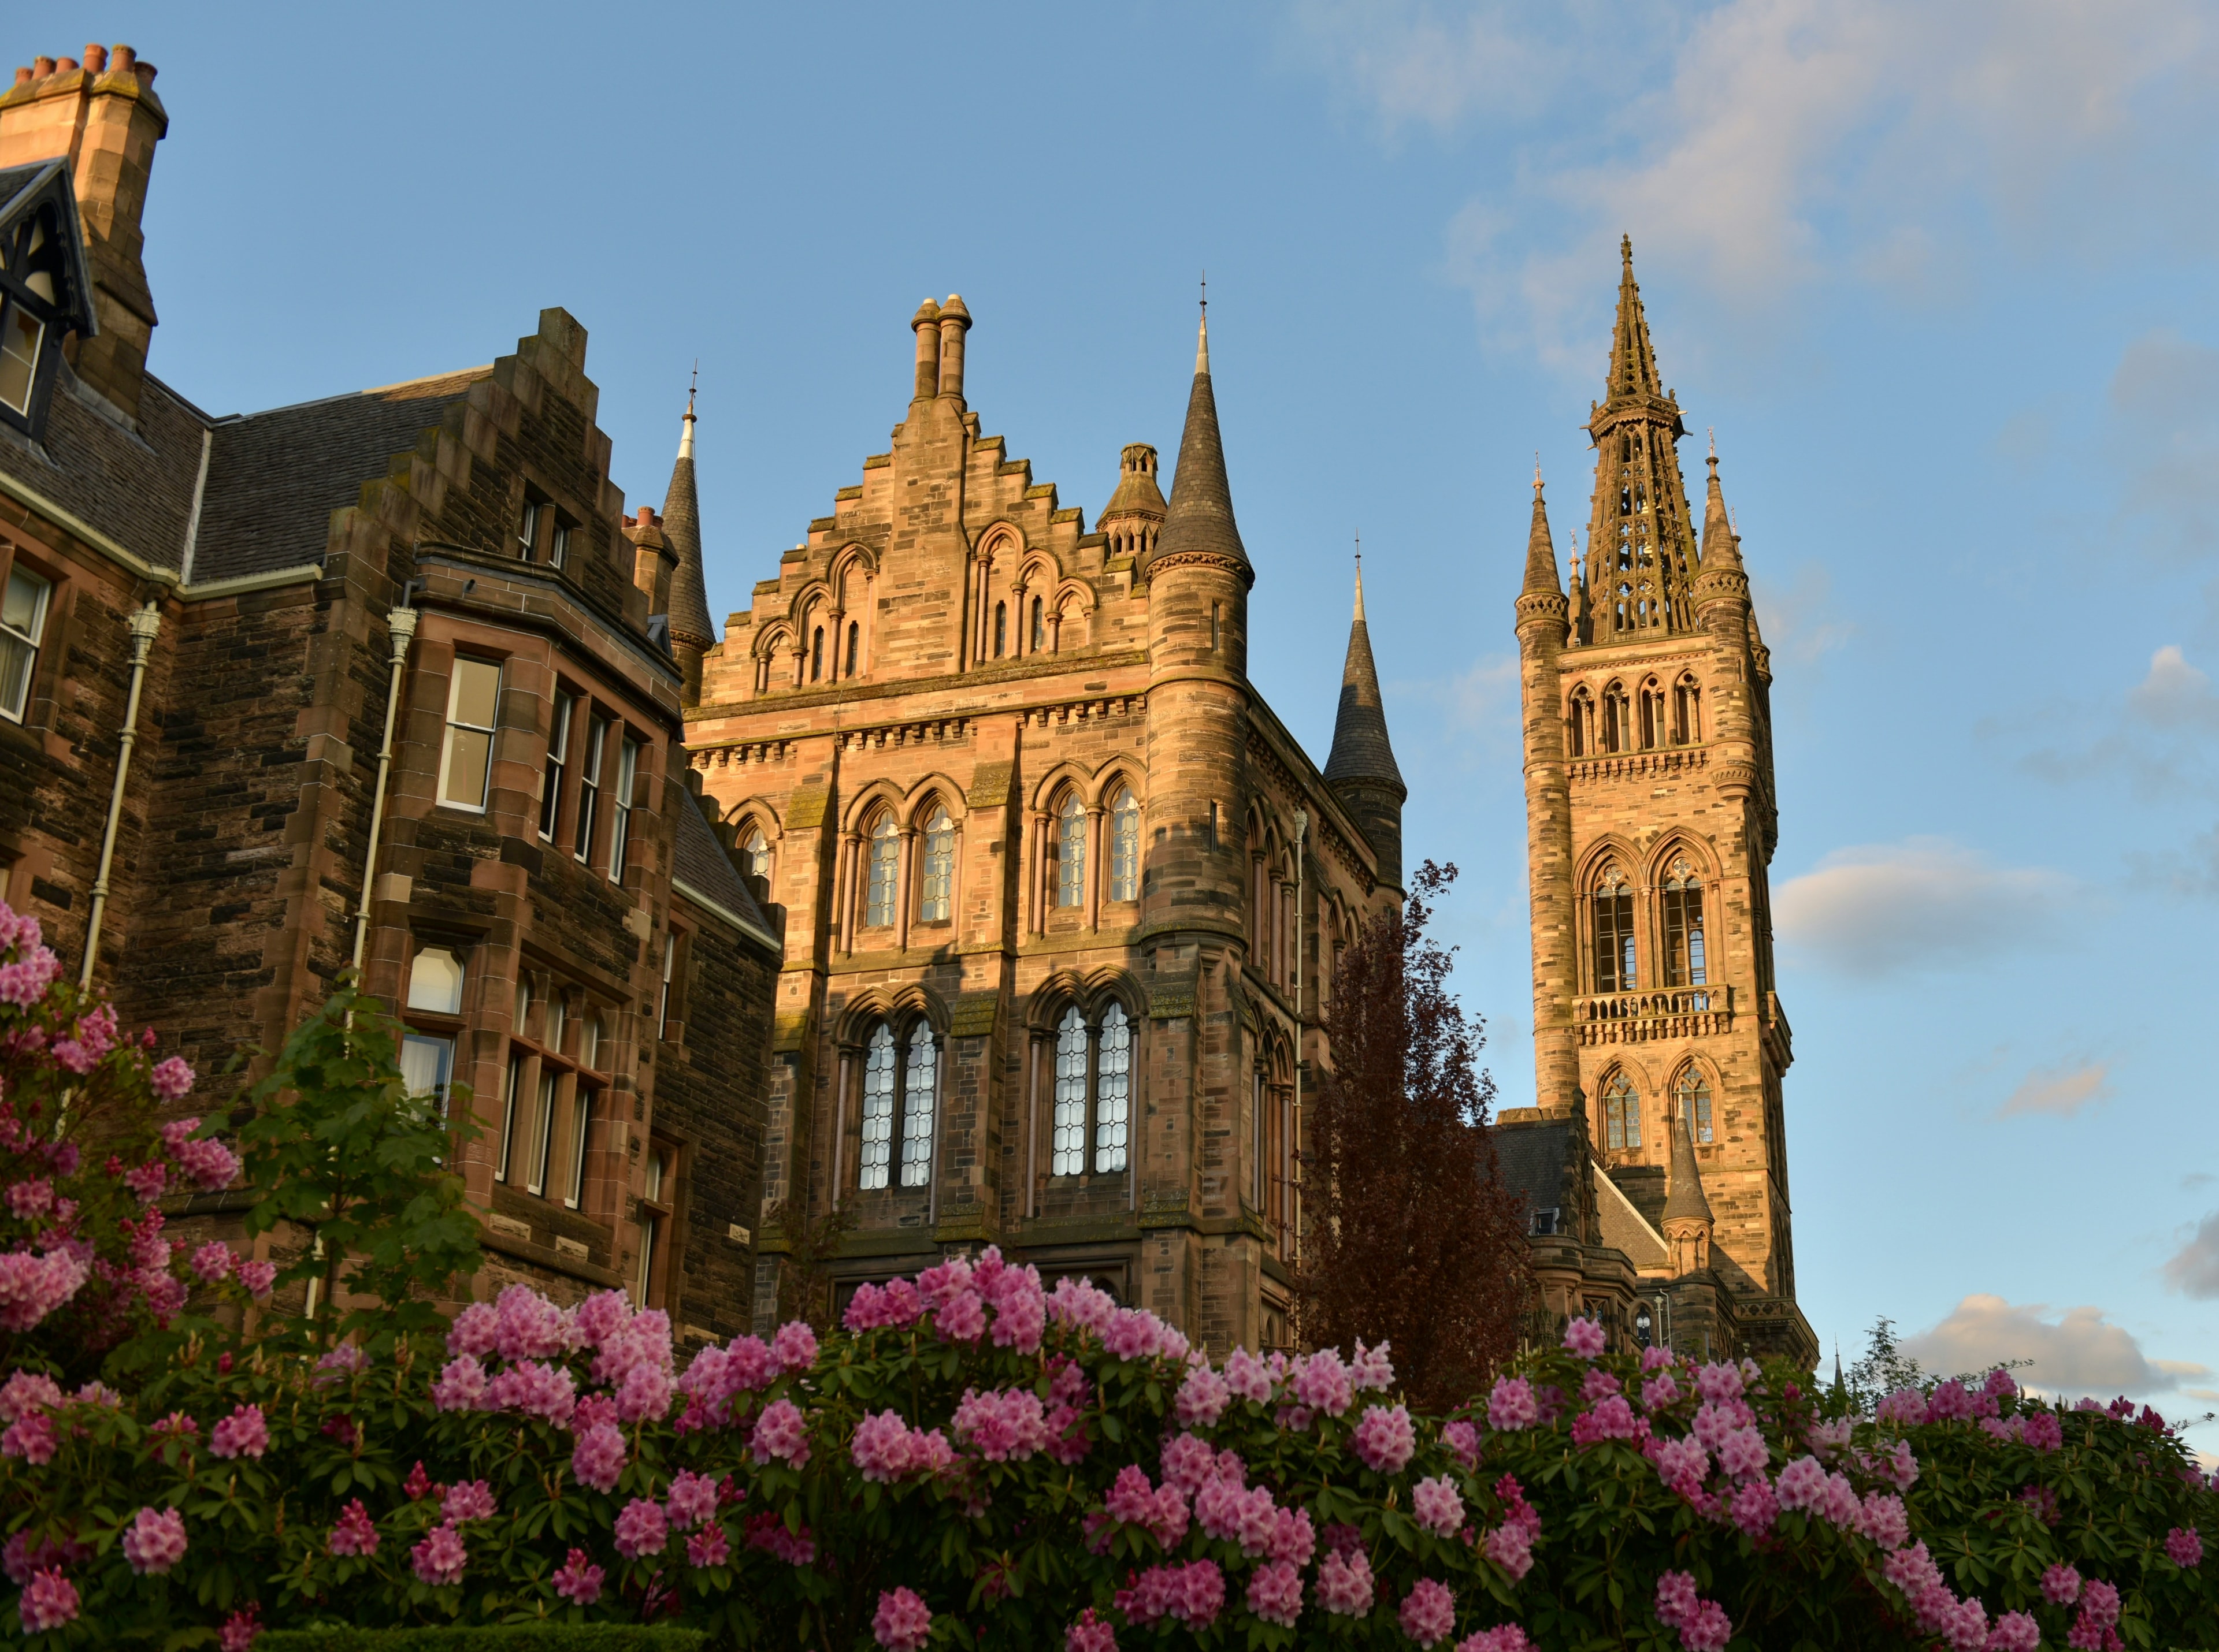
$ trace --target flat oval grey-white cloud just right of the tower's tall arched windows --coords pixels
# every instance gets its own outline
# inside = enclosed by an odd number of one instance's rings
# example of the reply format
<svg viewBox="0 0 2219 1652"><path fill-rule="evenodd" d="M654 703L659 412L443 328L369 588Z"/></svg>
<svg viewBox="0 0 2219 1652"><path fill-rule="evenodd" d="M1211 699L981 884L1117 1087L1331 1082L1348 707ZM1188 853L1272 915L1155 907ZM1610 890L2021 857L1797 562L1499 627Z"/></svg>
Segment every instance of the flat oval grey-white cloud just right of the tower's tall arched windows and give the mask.
<svg viewBox="0 0 2219 1652"><path fill-rule="evenodd" d="M1946 969L2044 940L2073 880L1948 838L1835 849L1773 896L1780 940L1848 976Z"/></svg>

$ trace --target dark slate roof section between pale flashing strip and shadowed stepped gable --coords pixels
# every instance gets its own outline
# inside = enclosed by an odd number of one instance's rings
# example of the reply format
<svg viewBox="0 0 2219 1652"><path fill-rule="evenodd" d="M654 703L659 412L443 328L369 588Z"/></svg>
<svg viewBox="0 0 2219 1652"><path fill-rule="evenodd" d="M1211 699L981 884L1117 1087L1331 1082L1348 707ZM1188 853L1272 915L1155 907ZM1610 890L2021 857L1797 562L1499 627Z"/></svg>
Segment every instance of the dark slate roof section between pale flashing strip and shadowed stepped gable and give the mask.
<svg viewBox="0 0 2219 1652"><path fill-rule="evenodd" d="M386 475L493 368L300 401L215 424L193 583L324 559L331 512Z"/></svg>

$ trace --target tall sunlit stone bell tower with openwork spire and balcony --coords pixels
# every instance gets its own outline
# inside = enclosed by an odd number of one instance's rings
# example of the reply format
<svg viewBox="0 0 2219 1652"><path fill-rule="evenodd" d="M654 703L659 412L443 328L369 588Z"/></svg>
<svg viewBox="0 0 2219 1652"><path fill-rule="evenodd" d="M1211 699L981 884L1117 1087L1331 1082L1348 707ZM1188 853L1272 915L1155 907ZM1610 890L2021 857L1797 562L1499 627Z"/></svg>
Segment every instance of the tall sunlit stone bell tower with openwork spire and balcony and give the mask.
<svg viewBox="0 0 2219 1652"><path fill-rule="evenodd" d="M1587 570L1573 557L1560 583L1536 477L1516 605L1538 1102L1582 1118L1633 1231L1666 1242L1653 1266L1635 1257L1642 1275L1700 1264L1724 1342L1811 1359L1766 889L1771 665L1715 452L1698 550L1686 426L1658 377L1631 244L1622 257L1609 381L1587 426Z"/></svg>

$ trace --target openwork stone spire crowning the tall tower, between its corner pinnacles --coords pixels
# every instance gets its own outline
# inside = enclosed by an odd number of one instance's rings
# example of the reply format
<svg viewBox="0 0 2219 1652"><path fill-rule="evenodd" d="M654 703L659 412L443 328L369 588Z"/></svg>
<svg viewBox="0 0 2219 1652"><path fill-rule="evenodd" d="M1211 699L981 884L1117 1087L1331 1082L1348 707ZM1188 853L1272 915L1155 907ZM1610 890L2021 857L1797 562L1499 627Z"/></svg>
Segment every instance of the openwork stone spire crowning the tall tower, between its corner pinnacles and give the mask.
<svg viewBox="0 0 2219 1652"><path fill-rule="evenodd" d="M1695 625L1689 601L1695 534L1675 446L1686 426L1680 401L1658 377L1631 239L1620 242L1620 257L1609 384L1587 419L1595 443L1595 501L1587 526L1595 643Z"/></svg>

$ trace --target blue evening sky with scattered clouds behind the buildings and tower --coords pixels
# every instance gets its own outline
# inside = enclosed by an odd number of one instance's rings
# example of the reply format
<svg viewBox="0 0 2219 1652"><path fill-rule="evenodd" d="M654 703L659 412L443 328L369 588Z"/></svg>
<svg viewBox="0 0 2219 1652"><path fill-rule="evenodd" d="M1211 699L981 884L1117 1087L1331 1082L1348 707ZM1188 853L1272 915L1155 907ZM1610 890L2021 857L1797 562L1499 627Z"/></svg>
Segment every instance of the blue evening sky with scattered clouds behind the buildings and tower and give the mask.
<svg viewBox="0 0 2219 1652"><path fill-rule="evenodd" d="M1323 756L1351 539L1467 1002L1531 1095L1511 599L1560 552L1631 233L1775 663L1802 1302L1855 1353L2219 1401L2219 18L1713 7L58 4L173 120L153 366L251 410L570 308L710 601L883 450L908 317L1092 514L1176 448L1196 277L1252 670ZM1700 475L1700 446L1684 450ZM2203 1009L2197 1009L2203 1005ZM2219 1448L2219 1428L2197 1441Z"/></svg>

